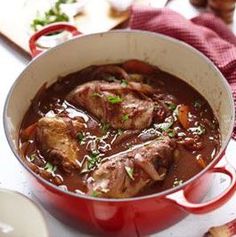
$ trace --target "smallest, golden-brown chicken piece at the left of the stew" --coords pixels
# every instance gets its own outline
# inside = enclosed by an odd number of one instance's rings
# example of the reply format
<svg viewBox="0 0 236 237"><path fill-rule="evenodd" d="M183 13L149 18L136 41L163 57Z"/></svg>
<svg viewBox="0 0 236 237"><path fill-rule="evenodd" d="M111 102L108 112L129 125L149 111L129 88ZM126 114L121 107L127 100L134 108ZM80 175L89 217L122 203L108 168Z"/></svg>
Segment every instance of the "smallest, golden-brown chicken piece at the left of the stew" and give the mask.
<svg viewBox="0 0 236 237"><path fill-rule="evenodd" d="M80 121L60 117L44 117L37 123L37 141L42 153L66 173L80 167L75 136L82 128Z"/></svg>

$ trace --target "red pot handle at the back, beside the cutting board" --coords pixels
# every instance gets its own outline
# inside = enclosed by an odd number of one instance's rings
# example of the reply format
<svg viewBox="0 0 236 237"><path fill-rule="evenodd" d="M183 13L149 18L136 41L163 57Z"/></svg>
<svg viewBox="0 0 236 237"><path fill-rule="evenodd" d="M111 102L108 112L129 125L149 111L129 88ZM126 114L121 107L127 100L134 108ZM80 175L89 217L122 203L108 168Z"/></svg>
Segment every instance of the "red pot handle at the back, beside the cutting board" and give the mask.
<svg viewBox="0 0 236 237"><path fill-rule="evenodd" d="M32 57L37 56L38 54L40 54L41 52L43 52L42 49L39 49L37 47L37 40L43 36L43 35L48 35L50 33L55 33L58 31L68 31L70 32L73 36L79 35L81 34L77 28L71 24L68 23L53 23L50 24L44 28L42 28L41 30L37 31L36 33L34 33L29 40L29 48L31 51L31 55Z"/></svg>

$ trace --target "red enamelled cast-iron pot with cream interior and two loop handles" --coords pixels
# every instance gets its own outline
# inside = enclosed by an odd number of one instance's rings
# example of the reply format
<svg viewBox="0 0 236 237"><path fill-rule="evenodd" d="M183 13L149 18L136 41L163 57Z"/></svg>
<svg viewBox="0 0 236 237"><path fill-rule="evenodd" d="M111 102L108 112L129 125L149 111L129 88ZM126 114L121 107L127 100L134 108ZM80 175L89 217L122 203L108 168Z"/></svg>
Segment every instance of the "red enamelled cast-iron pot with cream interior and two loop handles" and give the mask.
<svg viewBox="0 0 236 237"><path fill-rule="evenodd" d="M49 33L66 30L73 39L45 53L36 41ZM180 221L187 214L204 214L227 202L236 190L236 173L229 165L217 166L225 154L234 123L230 88L219 70L200 52L183 42L143 31L111 31L77 36L68 24L50 25L30 39L32 62L12 86L4 110L4 128L12 151L23 165L32 191L57 218L82 232L99 236L144 236ZM40 55L39 55L40 54ZM129 199L100 199L63 191L33 173L18 150L19 127L37 90L58 76L92 64L117 63L128 59L147 61L182 78L210 103L218 118L222 147L216 158L198 175L167 191ZM181 60L180 60L181 59ZM187 167L186 167L187 168ZM199 203L211 184L212 174L225 174L230 185L211 201Z"/></svg>

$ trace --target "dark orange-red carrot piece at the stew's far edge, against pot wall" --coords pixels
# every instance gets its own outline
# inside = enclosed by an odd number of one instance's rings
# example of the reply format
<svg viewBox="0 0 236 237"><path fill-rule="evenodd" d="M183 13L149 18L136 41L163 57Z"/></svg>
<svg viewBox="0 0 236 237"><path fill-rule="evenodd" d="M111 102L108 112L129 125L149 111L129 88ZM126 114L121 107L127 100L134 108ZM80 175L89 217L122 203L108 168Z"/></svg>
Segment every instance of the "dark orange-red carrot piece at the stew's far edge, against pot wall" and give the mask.
<svg viewBox="0 0 236 237"><path fill-rule="evenodd" d="M122 67L128 73L140 73L140 74L152 74L155 72L155 68L147 63L141 62L137 59L126 61Z"/></svg>

